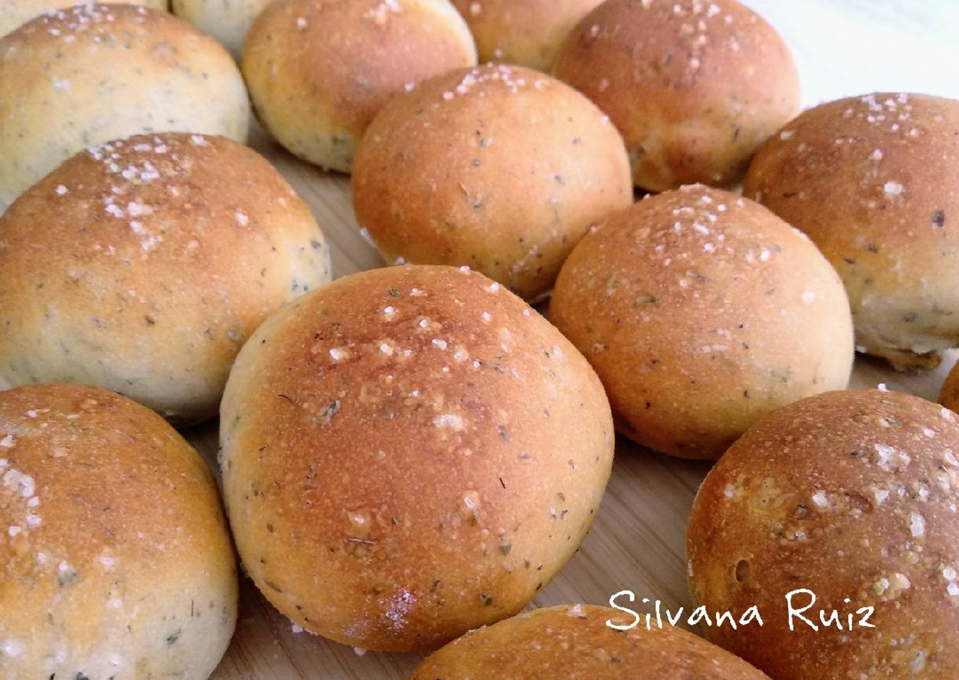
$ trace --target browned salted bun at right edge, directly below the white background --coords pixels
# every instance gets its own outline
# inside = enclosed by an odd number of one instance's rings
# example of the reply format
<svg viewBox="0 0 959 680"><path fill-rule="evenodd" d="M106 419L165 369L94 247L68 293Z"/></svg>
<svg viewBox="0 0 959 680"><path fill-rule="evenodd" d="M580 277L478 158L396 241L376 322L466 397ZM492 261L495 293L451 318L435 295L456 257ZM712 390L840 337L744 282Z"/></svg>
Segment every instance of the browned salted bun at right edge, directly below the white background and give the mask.
<svg viewBox="0 0 959 680"><path fill-rule="evenodd" d="M933 368L959 346L959 102L877 93L816 106L770 139L745 194L838 270L862 352Z"/></svg>

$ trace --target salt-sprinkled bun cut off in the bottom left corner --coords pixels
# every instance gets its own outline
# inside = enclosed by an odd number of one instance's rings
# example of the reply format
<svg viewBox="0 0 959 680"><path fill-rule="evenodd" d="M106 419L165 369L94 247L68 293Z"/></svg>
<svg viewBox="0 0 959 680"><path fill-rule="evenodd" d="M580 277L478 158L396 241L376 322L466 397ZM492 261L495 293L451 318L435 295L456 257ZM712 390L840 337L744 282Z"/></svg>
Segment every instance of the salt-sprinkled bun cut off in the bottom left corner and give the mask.
<svg viewBox="0 0 959 680"><path fill-rule="evenodd" d="M0 392L5 678L204 680L237 575L217 487L162 418L95 387Z"/></svg>

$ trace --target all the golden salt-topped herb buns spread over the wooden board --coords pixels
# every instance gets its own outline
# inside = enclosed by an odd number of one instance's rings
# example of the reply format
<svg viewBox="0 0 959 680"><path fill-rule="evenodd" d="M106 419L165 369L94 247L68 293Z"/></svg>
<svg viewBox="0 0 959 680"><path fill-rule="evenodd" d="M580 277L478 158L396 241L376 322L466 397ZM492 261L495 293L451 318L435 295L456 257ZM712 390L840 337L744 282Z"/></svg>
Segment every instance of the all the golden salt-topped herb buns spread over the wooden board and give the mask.
<svg viewBox="0 0 959 680"><path fill-rule="evenodd" d="M208 677L230 531L295 626L442 647L413 678L956 677L959 421L845 388L959 345L959 103L799 102L736 0L6 3L0 678ZM331 283L251 112L399 266ZM174 430L218 413L228 528ZM719 459L697 603L877 628L518 615L616 432Z"/></svg>

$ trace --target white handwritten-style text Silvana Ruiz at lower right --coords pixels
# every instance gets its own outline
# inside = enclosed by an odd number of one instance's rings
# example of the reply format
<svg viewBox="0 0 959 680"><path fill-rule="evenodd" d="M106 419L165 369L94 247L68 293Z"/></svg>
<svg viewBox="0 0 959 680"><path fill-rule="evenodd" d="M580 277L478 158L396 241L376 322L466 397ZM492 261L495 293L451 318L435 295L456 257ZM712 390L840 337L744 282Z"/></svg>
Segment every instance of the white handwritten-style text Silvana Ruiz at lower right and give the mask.
<svg viewBox="0 0 959 680"><path fill-rule="evenodd" d="M796 630L797 626L805 625L814 631L821 628L834 628L835 630L853 630L854 628L875 628L876 625L870 621L870 618L876 611L875 607L858 607L849 611L839 611L837 609L817 609L813 610L816 603L816 594L806 588L798 588L785 594L786 616L788 617L789 630ZM678 625L685 623L690 626L706 625L709 627L722 627L729 625L736 630L739 626L760 625L762 620L760 608L756 605L748 607L736 615L733 612L710 612L705 606L698 606L687 612L685 607L672 611L663 606L661 600L653 602L649 598L643 598L643 604L651 604L652 612L637 612L633 609L618 603L623 599L629 602L636 601L636 594L631 590L620 590L609 598L609 606L619 609L633 617L630 623L617 623L607 620L606 625L616 630L631 630L638 625L644 625L646 630L654 627L663 628L664 625ZM850 598L843 600L846 604L851 604Z"/></svg>

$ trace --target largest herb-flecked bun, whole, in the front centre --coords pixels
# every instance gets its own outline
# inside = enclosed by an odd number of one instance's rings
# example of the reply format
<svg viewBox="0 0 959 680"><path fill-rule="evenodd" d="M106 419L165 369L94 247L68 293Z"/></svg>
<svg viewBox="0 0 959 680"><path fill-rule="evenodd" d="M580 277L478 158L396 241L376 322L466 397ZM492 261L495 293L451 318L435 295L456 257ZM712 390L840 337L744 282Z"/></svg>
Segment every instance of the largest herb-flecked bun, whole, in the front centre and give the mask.
<svg viewBox="0 0 959 680"><path fill-rule="evenodd" d="M293 301L246 343L221 416L246 572L303 628L387 651L520 611L579 546L613 459L589 364L465 268Z"/></svg>

